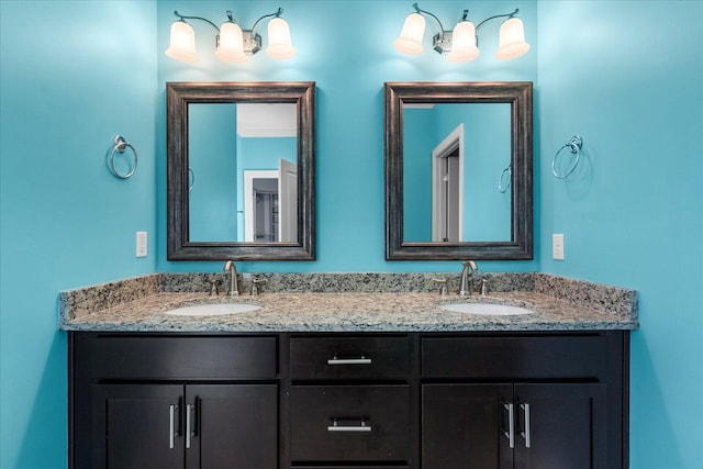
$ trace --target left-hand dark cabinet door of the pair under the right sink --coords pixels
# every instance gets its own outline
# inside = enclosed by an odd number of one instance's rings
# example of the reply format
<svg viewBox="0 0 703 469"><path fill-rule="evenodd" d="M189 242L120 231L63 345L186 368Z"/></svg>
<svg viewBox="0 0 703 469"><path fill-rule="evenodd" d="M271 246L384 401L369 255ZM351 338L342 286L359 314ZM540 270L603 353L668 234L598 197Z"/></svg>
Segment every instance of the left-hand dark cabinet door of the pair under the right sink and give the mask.
<svg viewBox="0 0 703 469"><path fill-rule="evenodd" d="M512 384L423 384L422 468L512 468Z"/></svg>

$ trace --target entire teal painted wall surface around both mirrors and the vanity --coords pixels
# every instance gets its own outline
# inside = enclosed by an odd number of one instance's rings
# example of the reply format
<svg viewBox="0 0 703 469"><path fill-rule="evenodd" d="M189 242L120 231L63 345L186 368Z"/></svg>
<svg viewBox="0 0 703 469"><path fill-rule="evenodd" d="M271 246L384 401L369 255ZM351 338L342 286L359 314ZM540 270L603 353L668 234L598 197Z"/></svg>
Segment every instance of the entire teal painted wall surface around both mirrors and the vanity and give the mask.
<svg viewBox="0 0 703 469"><path fill-rule="evenodd" d="M258 54L241 68L220 64L204 26L196 27L200 65L163 54L175 9L224 20L236 8L250 25L279 3L299 49L290 62ZM481 268L637 289L631 467L700 467L703 3L637 2L633 14L631 1L510 2L521 8L533 52L493 59L489 27L482 57L464 66L394 52L410 3L0 0L0 467L66 465L59 290L222 268L165 254L165 82L198 80L319 87L319 260L243 263L242 271L458 271L456 263L383 260L382 83L535 81L536 259ZM487 18L495 4L471 2L471 13ZM442 19L464 8L432 2ZM375 33L359 35L356 24ZM49 25L58 30L43 32ZM140 150L127 181L105 167L115 133ZM576 133L584 159L573 177L556 180L551 156ZM149 257L136 259L134 232L143 230ZM550 258L551 233L565 234L565 261Z"/></svg>

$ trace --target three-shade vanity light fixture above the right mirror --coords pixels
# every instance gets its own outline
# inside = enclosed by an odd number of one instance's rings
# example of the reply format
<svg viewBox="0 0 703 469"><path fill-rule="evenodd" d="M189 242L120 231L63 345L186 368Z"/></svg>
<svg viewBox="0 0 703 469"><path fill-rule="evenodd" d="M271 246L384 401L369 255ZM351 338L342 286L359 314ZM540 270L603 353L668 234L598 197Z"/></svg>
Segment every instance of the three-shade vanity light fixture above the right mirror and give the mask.
<svg viewBox="0 0 703 469"><path fill-rule="evenodd" d="M454 31L445 31L439 19L433 13L421 10L417 3L413 3L415 12L411 13L403 23L400 36L393 42L395 48L403 54L420 55L423 52L422 38L425 33L425 16L432 18L439 26L439 32L434 35L433 48L439 54L446 54L447 60L461 63L471 62L481 55L478 48L478 31L488 21L496 18L507 18L501 25L500 45L495 57L510 60L517 58L529 51L529 44L525 42L525 30L522 20L515 18L520 9L512 13L496 14L481 21L478 26L467 20L469 10L464 10L461 20L454 26Z"/></svg>

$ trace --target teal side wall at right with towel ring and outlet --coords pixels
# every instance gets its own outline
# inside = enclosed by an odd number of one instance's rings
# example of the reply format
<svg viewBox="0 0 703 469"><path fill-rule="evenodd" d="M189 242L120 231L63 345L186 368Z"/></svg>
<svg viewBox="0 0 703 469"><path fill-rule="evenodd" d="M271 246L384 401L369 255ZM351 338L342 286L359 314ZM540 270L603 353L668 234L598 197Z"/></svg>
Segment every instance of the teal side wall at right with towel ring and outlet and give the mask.
<svg viewBox="0 0 703 469"><path fill-rule="evenodd" d="M635 5L636 3L636 5ZM703 2L538 2L542 270L634 288L634 469L703 464ZM551 157L585 142L567 180ZM553 233L566 259L551 260Z"/></svg>

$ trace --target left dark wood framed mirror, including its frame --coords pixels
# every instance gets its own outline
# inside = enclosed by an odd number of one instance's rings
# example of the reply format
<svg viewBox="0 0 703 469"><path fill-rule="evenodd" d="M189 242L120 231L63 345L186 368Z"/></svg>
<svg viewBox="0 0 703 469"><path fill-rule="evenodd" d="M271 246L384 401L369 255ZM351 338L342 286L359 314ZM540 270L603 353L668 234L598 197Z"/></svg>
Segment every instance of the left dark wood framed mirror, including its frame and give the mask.
<svg viewBox="0 0 703 469"><path fill-rule="evenodd" d="M167 82L168 260L315 259L315 82Z"/></svg>

